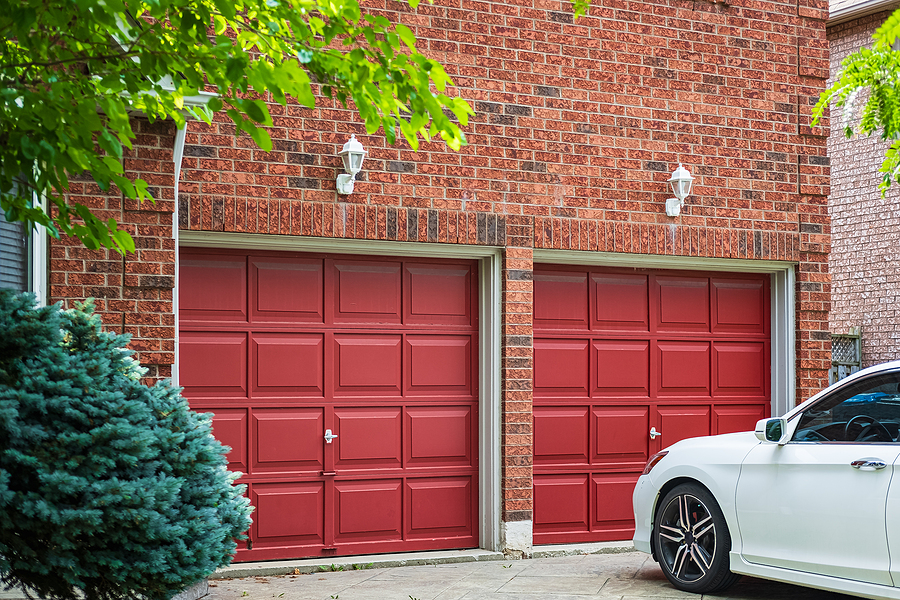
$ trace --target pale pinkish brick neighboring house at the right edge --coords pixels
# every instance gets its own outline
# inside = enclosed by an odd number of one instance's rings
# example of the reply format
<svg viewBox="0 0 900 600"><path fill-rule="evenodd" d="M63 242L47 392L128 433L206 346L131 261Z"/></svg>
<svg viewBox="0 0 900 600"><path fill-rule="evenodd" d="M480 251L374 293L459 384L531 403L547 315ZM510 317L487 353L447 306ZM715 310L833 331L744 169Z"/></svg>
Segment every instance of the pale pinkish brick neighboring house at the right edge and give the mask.
<svg viewBox="0 0 900 600"><path fill-rule="evenodd" d="M871 45L872 34L898 5L832 2L828 24L832 77L847 55ZM833 108L831 117L840 123L841 109ZM900 192L896 184L883 198L878 190L878 169L886 149L877 134L847 139L840 127L828 139L833 298L829 323L833 333L860 328L864 367L900 358Z"/></svg>

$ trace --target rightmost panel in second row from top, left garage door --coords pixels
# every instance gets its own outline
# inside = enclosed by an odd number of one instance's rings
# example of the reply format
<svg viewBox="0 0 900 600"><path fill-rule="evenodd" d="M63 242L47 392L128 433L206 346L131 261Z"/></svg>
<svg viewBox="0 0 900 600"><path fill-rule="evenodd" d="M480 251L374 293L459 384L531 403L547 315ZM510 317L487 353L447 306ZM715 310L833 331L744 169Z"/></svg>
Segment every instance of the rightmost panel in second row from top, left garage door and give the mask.
<svg viewBox="0 0 900 600"><path fill-rule="evenodd" d="M408 335L410 394L472 395L472 336Z"/></svg>

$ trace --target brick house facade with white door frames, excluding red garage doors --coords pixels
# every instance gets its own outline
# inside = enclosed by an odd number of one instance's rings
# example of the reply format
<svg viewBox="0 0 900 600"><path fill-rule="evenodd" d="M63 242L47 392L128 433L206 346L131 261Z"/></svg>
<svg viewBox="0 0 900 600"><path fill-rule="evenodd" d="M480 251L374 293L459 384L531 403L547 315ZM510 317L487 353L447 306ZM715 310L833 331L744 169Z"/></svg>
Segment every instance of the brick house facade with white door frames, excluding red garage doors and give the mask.
<svg viewBox="0 0 900 600"><path fill-rule="evenodd" d="M149 181L155 205L72 188L124 223L137 252L54 243L51 300L97 298L107 326L133 335L148 380L178 378L186 248L477 261L477 543L525 554L535 539L536 264L564 274L581 265L591 281L700 269L712 273L708 287L716 273L762 274L765 411L827 385L827 129L808 127L828 77L823 2L597 0L575 22L552 0L366 4L412 27L445 65L477 113L468 146L392 147L324 98L316 110L272 105L268 153L221 116L186 133L139 122L126 168ZM351 133L369 154L355 193L338 196L337 153ZM696 179L670 218L666 180L679 163ZM702 418L707 433L725 430ZM641 456L653 448L641 444ZM630 537L622 531L578 539Z"/></svg>

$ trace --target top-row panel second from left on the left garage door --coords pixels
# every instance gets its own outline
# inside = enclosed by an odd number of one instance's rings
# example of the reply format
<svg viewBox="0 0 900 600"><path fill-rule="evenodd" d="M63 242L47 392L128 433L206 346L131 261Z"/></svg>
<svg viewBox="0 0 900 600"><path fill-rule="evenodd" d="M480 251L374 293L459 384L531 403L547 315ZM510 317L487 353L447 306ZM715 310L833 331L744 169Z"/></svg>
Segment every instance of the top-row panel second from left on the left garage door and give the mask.
<svg viewBox="0 0 900 600"><path fill-rule="evenodd" d="M322 259L251 258L253 322L323 323Z"/></svg>

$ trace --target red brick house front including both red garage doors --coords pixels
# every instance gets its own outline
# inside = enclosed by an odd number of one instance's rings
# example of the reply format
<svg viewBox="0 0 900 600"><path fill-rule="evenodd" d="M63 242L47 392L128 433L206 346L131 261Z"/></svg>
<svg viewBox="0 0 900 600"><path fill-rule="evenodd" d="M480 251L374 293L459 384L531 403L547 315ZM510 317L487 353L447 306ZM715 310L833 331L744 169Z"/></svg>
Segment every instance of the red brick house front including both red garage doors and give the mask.
<svg viewBox="0 0 900 600"><path fill-rule="evenodd" d="M239 559L627 539L650 454L825 387L823 2L368 4L473 103L461 152L324 99L274 105L269 153L141 123L155 206L73 188L138 252L52 249L52 298L97 297L215 412L257 506Z"/></svg>

